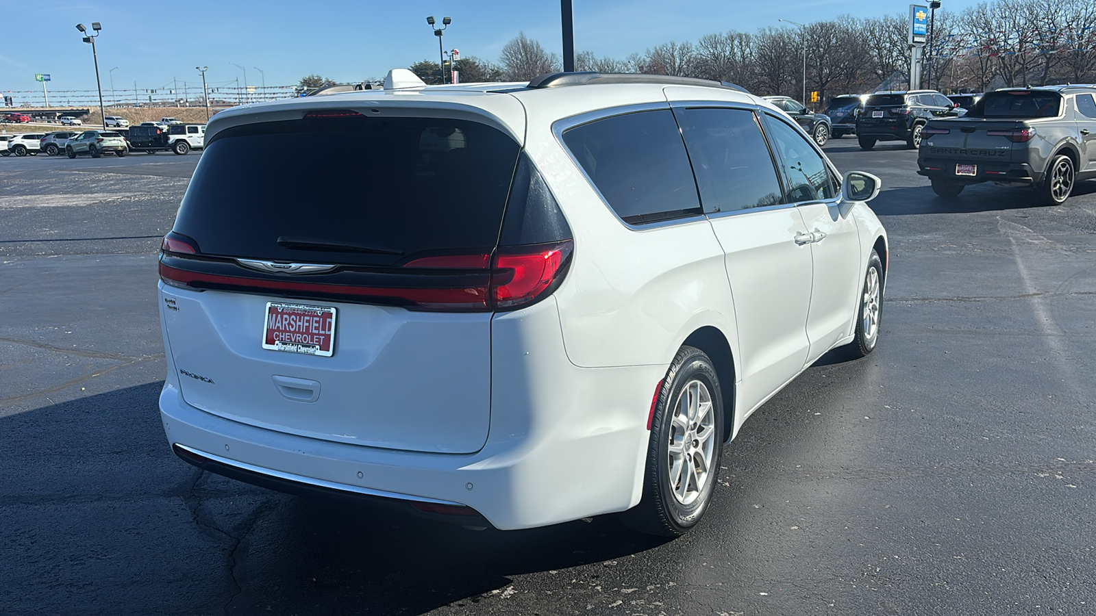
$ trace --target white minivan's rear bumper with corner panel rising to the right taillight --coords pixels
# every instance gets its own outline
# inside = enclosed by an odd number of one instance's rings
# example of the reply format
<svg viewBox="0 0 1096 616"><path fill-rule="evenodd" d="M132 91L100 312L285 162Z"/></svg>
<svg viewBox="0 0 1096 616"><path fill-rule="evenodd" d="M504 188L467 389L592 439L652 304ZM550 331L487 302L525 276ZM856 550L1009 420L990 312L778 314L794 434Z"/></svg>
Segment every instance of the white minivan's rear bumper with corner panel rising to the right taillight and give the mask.
<svg viewBox="0 0 1096 616"><path fill-rule="evenodd" d="M215 415L183 400L170 347L160 415L186 461L285 492L465 505L500 529L627 510L642 494L650 391L666 367L579 368L558 319L552 298L495 317L490 433L473 454L339 443Z"/></svg>

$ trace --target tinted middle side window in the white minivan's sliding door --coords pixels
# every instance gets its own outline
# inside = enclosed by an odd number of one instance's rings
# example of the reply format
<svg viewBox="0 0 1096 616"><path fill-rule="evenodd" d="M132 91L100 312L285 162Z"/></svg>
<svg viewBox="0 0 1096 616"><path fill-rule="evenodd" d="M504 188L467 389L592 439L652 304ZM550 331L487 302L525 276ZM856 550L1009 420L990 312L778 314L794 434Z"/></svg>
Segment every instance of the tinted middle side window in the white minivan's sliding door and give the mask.
<svg viewBox="0 0 1096 616"><path fill-rule="evenodd" d="M757 118L747 110L677 110L705 212L731 212L784 201Z"/></svg>

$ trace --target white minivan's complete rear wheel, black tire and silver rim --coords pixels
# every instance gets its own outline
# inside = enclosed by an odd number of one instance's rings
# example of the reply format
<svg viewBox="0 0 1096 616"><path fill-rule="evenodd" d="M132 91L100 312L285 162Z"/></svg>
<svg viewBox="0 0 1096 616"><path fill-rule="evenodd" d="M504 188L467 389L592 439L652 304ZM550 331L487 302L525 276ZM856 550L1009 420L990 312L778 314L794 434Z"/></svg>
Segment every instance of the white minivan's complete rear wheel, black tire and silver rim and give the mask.
<svg viewBox="0 0 1096 616"><path fill-rule="evenodd" d="M723 396L716 368L704 351L682 346L659 390L643 497L620 520L641 533L684 535L711 502L722 446Z"/></svg>

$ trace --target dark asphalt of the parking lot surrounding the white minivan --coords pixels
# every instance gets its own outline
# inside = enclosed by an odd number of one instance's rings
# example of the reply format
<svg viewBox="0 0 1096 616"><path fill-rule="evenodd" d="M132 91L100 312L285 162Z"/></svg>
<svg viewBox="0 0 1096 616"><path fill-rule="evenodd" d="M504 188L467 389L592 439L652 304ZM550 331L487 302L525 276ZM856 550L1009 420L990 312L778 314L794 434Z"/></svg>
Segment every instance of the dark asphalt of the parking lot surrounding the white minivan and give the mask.
<svg viewBox="0 0 1096 616"><path fill-rule="evenodd" d="M199 155L0 159L0 614L1096 613L1096 182L945 202L897 144L825 150L884 183L879 346L746 421L676 540L466 531L185 465L156 261Z"/></svg>

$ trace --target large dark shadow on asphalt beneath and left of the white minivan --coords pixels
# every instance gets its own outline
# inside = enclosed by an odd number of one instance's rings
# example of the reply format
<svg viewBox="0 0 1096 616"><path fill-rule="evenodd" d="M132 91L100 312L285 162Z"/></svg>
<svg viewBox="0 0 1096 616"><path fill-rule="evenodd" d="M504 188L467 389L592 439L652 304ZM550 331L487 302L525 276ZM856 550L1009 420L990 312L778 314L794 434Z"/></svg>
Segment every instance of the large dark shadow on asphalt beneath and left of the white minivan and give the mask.
<svg viewBox="0 0 1096 616"><path fill-rule="evenodd" d="M203 472L171 454L160 387L4 409L0 613L418 614L669 540L614 516L471 531Z"/></svg>

